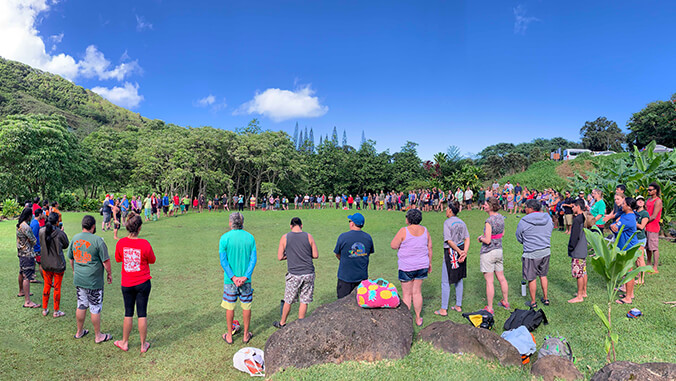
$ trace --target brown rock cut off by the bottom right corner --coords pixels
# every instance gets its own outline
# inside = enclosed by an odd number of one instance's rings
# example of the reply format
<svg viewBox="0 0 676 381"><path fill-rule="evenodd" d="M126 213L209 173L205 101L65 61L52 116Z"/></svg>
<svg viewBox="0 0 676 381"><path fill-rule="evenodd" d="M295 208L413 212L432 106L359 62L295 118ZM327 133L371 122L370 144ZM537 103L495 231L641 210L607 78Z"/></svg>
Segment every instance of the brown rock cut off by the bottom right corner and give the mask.
<svg viewBox="0 0 676 381"><path fill-rule="evenodd" d="M591 379L592 381L676 380L676 364L667 362L636 364L630 361L617 361L599 369Z"/></svg>

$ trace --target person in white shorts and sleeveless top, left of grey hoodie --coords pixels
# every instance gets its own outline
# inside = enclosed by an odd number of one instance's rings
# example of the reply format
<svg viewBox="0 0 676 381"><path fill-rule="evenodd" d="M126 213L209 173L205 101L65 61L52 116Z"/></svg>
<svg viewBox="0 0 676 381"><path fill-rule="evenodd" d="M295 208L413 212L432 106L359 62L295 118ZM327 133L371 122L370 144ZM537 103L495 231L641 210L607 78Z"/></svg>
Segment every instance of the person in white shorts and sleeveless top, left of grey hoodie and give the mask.
<svg viewBox="0 0 676 381"><path fill-rule="evenodd" d="M477 237L477 241L481 243L479 267L486 280L486 299L488 300L484 309L490 313L493 313L493 297L495 296L494 274L498 278L502 291L502 300L498 304L507 310L509 309L509 284L505 279L502 259L502 236L505 234L505 218L498 213L498 210L500 210L500 203L496 198L490 197L486 200L484 211L488 213L488 218L484 224L484 234Z"/></svg>

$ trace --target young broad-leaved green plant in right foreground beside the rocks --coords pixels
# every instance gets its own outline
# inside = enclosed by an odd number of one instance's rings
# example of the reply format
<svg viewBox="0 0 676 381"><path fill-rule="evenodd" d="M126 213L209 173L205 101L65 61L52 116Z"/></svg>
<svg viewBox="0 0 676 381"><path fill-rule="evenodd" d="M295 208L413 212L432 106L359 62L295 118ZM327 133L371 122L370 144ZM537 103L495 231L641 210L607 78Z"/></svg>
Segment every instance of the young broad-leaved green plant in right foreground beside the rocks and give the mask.
<svg viewBox="0 0 676 381"><path fill-rule="evenodd" d="M593 229L596 230L597 228ZM624 226L617 233L618 238L622 234L622 230L624 230ZM594 312L596 312L596 315L601 319L607 330L604 349L606 351L606 360L610 363L611 361L615 361L615 346L619 340L619 336L613 331L610 317L612 306L615 304L617 290L621 285L634 279L639 273L643 271L652 272L653 269L651 266L641 266L632 270L632 267L636 264L636 260L641 256L641 252L639 245L627 247L629 242L631 242L631 238L627 241L625 247L620 248L618 247L618 238L614 241L608 241L603 238L602 234L589 229L584 229L584 234L587 237L587 242L589 242L596 253L595 256L589 257L591 267L606 282L608 313L605 315L603 310L596 304L594 304Z"/></svg>

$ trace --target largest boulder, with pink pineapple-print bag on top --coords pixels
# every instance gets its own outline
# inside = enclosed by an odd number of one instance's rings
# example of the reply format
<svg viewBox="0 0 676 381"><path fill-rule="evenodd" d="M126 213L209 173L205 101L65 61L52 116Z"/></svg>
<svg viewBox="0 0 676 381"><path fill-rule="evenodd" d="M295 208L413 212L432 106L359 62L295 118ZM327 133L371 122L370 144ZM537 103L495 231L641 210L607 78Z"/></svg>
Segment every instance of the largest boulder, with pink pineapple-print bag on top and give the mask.
<svg viewBox="0 0 676 381"><path fill-rule="evenodd" d="M343 361L400 359L411 351L413 318L404 304L364 309L356 291L288 323L265 343L265 371Z"/></svg>

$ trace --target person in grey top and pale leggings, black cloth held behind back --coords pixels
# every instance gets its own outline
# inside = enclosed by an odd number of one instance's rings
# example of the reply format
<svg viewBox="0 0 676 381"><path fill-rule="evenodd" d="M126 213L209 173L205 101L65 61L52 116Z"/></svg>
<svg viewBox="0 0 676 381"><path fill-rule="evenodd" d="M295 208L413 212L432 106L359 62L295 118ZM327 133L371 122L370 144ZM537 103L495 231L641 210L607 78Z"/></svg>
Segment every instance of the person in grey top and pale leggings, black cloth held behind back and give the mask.
<svg viewBox="0 0 676 381"><path fill-rule="evenodd" d="M455 287L455 306L452 309L462 312L463 279L467 277L470 238L467 225L457 217L459 211L460 203L448 203L447 219L444 221L444 263L441 265L441 309L434 312L440 316L448 315L451 284Z"/></svg>

